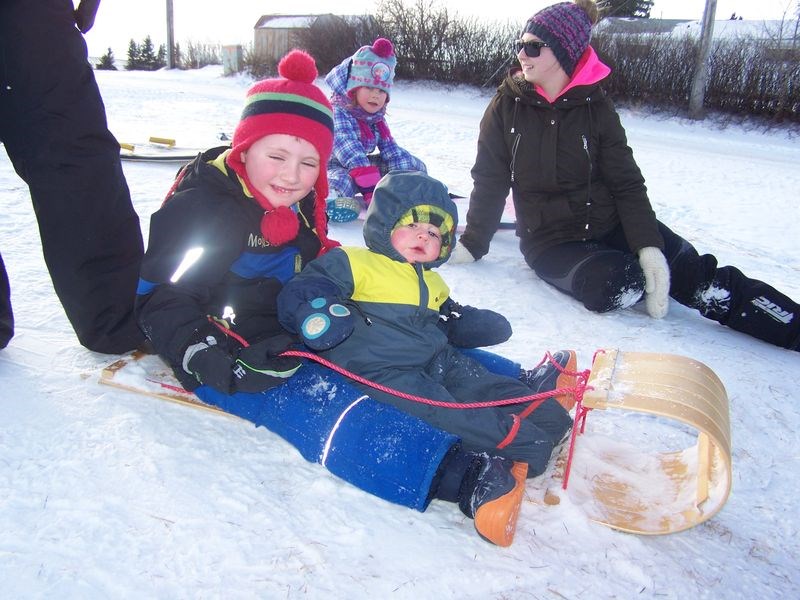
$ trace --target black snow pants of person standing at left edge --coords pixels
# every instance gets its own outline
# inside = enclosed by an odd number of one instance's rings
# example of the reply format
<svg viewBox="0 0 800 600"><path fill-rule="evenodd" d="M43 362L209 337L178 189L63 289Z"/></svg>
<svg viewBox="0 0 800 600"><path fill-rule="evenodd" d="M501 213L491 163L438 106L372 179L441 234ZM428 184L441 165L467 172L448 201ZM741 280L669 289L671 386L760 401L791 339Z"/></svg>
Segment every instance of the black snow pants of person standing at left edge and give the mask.
<svg viewBox="0 0 800 600"><path fill-rule="evenodd" d="M137 347L139 217L72 0L0 2L0 140L30 189L45 263L81 344ZM0 259L0 342L11 335Z"/></svg>

